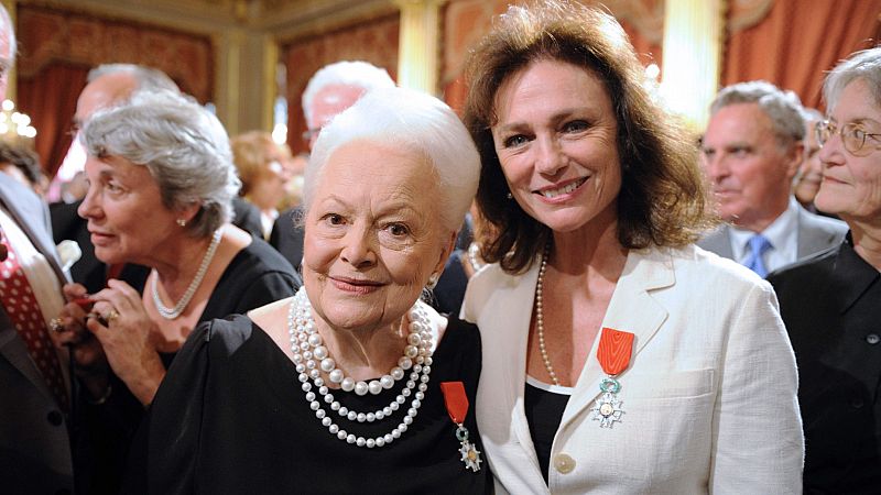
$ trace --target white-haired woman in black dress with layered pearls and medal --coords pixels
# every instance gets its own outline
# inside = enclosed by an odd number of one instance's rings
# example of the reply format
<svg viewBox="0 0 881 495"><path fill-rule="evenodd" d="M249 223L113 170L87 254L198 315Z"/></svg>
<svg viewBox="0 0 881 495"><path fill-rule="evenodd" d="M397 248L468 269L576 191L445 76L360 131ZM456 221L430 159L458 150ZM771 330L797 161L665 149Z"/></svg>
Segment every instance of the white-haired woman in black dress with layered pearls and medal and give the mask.
<svg viewBox="0 0 881 495"><path fill-rule="evenodd" d="M469 407L479 333L420 300L478 175L465 127L436 98L373 90L335 118L306 168L303 288L191 336L153 402L128 488L490 490Z"/></svg>

